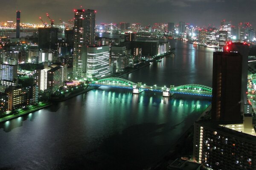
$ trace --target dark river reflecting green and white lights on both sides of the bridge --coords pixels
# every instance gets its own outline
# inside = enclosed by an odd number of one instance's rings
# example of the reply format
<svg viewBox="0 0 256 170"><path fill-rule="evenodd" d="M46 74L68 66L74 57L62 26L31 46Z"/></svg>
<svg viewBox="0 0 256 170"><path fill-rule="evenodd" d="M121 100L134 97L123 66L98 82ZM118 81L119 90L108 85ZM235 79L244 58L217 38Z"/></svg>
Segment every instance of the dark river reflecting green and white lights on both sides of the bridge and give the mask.
<svg viewBox="0 0 256 170"><path fill-rule="evenodd" d="M147 85L211 86L213 50L182 41L171 45L175 57L123 78ZM141 170L164 156L209 100L100 87L0 123L0 169Z"/></svg>

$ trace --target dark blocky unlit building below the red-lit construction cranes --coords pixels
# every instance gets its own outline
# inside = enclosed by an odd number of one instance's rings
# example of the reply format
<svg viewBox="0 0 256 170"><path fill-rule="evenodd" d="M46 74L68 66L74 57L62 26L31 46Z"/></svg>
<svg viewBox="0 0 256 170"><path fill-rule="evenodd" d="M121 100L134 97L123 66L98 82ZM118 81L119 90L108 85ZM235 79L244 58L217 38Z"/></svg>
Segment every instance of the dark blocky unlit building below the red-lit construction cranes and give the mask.
<svg viewBox="0 0 256 170"><path fill-rule="evenodd" d="M57 51L58 28L38 28L39 50Z"/></svg>

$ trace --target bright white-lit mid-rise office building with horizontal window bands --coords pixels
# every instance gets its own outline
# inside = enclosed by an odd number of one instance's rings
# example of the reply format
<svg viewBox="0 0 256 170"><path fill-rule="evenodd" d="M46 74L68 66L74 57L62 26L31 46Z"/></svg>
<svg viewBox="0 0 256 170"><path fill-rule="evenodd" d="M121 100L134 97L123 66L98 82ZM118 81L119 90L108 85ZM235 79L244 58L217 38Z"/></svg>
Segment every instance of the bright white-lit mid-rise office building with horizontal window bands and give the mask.
<svg viewBox="0 0 256 170"><path fill-rule="evenodd" d="M101 78L109 73L109 46L91 46L87 49L87 78Z"/></svg>

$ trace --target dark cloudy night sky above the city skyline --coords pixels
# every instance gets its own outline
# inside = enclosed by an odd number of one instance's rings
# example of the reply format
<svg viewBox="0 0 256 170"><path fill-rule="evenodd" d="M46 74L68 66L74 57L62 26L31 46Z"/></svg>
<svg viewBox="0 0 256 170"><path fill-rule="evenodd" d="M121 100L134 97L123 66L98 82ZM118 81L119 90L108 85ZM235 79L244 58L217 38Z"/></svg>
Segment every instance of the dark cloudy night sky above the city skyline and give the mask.
<svg viewBox="0 0 256 170"><path fill-rule="evenodd" d="M96 23L167 23L184 21L193 26L219 27L223 19L234 25L250 22L256 28L256 0L0 0L0 21L15 20L21 11L21 22L49 23L48 12L55 23L72 19L73 9L95 9Z"/></svg>

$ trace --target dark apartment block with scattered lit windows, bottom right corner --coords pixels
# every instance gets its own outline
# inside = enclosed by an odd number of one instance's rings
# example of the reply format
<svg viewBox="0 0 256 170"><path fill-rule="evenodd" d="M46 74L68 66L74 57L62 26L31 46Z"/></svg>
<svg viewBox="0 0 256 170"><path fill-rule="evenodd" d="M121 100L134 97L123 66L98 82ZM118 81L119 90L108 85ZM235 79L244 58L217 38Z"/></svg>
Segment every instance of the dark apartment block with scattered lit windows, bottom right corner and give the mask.
<svg viewBox="0 0 256 170"><path fill-rule="evenodd" d="M240 121L195 122L193 159L213 170L255 170L252 123L251 114Z"/></svg>

